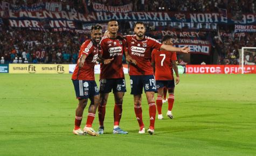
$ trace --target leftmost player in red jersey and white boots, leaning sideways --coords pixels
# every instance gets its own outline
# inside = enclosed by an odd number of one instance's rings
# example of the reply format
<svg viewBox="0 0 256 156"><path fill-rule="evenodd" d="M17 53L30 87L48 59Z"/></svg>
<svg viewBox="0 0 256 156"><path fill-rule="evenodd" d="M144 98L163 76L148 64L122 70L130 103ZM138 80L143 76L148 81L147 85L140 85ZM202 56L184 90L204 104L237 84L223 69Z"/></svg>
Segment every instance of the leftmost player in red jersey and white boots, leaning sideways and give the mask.
<svg viewBox="0 0 256 156"><path fill-rule="evenodd" d="M100 25L92 26L91 39L86 40L82 44L79 51L78 63L72 75L75 94L79 101L78 107L75 110L75 127L73 130L75 135L88 133L89 135L98 136L98 133L92 128L92 123L100 101L99 89L94 78L94 65L100 51L101 30L102 27ZM84 113L88 99L91 100L91 104L88 109L87 122L84 130L81 130L82 114Z"/></svg>

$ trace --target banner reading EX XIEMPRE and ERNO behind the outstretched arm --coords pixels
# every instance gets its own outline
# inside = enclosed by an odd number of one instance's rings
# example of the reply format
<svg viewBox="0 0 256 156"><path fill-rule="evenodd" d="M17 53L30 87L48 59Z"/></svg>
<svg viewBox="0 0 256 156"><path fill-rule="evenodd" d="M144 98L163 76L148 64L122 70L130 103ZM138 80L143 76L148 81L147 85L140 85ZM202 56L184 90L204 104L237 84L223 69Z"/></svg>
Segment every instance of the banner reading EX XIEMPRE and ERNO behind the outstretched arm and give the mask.
<svg viewBox="0 0 256 156"><path fill-rule="evenodd" d="M211 43L206 40L191 40L191 39L173 39L172 42L176 47L188 46L191 54L210 55Z"/></svg>

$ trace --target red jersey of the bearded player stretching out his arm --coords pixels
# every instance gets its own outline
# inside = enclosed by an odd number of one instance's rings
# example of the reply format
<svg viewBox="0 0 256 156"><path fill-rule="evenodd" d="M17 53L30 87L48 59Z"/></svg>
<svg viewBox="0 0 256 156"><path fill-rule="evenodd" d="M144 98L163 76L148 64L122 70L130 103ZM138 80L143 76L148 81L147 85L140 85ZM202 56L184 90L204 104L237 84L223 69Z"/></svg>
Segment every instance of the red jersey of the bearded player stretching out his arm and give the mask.
<svg viewBox="0 0 256 156"><path fill-rule="evenodd" d="M162 43L148 36L137 40L136 35L127 35L126 41L129 55L137 62L136 65L130 63L129 75L154 75L151 52L153 49L160 49Z"/></svg>

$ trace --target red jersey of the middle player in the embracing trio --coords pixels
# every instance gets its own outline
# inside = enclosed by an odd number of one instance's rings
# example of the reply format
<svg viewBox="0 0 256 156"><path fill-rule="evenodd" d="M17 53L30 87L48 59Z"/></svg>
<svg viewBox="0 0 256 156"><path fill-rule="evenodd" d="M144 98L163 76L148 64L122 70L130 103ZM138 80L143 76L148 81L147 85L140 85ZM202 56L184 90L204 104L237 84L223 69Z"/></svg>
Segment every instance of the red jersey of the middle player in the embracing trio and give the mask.
<svg viewBox="0 0 256 156"><path fill-rule="evenodd" d="M109 64L100 64L100 79L124 78L122 58L126 40L110 39L103 37L100 41L103 59L114 58Z"/></svg>

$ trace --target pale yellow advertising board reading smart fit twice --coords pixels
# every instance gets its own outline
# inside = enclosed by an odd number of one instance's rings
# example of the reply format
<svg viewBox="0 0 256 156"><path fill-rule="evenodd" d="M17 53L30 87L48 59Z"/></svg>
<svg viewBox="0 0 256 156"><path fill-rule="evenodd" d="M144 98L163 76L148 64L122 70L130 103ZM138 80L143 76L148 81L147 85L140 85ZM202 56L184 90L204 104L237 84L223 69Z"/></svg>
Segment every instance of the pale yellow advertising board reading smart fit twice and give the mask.
<svg viewBox="0 0 256 156"><path fill-rule="evenodd" d="M68 73L68 64L9 64L9 73Z"/></svg>

